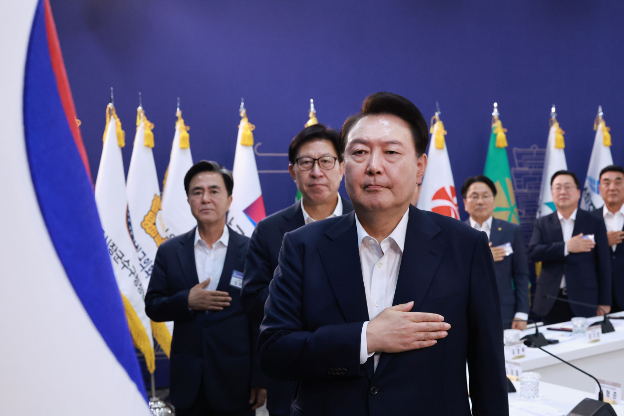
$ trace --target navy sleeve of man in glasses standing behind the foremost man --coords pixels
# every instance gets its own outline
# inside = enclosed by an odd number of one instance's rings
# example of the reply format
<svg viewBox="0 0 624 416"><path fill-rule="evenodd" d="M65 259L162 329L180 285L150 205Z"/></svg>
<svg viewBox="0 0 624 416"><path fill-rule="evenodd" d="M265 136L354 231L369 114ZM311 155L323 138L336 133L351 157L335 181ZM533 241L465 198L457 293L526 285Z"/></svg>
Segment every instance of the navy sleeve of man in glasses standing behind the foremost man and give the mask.
<svg viewBox="0 0 624 416"><path fill-rule="evenodd" d="M245 310L250 322L256 327L260 327L265 315L265 302L274 271L271 270L271 259L263 225L258 225L251 235L245 258L243 286L240 292L240 303L243 310Z"/></svg>

